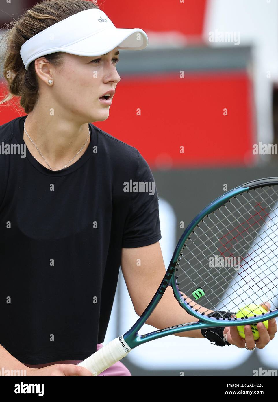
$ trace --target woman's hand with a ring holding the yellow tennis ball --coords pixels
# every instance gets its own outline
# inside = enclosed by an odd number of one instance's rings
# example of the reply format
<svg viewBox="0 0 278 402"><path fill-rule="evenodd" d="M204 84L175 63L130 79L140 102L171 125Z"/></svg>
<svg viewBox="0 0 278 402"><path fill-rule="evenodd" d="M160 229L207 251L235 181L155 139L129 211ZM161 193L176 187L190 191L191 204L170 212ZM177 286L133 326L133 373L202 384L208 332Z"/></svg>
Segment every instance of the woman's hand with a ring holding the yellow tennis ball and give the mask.
<svg viewBox="0 0 278 402"><path fill-rule="evenodd" d="M260 306L262 306L267 311L270 310L269 303L262 303L260 304ZM271 320L268 321L268 329L266 329L266 327L262 322L258 322L257 328L259 331L260 338L256 340L253 337L253 332L250 325L244 326L245 339L241 338L241 336L237 331L236 326L225 327L224 336L225 339L229 343L231 343L231 345L235 345L238 348L245 348L245 342L246 342L247 349L250 350L253 349L255 347L255 344L258 349L264 349L264 347L268 344L268 342L274 338L274 335L277 332L276 320L275 318L272 318Z"/></svg>

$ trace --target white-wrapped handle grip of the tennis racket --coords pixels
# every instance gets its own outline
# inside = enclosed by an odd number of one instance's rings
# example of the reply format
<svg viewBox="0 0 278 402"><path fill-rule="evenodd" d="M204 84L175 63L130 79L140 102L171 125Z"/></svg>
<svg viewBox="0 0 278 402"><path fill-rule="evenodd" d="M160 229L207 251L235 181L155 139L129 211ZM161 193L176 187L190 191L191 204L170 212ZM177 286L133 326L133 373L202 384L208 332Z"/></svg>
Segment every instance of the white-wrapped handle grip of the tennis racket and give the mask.
<svg viewBox="0 0 278 402"><path fill-rule="evenodd" d="M87 357L78 366L86 367L92 374L98 375L114 363L117 363L117 361L123 359L130 351L131 348L129 345L127 345L123 336L120 336L111 340L93 355Z"/></svg>

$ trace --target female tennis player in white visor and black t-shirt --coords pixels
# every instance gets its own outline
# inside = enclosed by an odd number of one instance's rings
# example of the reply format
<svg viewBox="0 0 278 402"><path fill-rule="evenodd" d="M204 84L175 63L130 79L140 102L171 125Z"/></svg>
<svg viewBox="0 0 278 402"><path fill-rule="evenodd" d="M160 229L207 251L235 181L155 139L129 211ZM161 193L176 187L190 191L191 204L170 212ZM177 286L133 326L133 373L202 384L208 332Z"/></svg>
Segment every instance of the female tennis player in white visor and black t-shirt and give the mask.
<svg viewBox="0 0 278 402"><path fill-rule="evenodd" d="M25 115L0 127L1 364L27 375L92 375L77 364L102 347L119 266L139 315L165 274L151 170L91 123L108 118L119 49L144 49L147 35L116 29L85 0L41 2L8 28L2 103L18 96ZM127 191L131 180L148 191ZM147 323L190 321L168 288ZM275 319L258 330L256 342L250 326L246 339L235 327L178 335L262 349ZM118 362L102 375L131 374Z"/></svg>

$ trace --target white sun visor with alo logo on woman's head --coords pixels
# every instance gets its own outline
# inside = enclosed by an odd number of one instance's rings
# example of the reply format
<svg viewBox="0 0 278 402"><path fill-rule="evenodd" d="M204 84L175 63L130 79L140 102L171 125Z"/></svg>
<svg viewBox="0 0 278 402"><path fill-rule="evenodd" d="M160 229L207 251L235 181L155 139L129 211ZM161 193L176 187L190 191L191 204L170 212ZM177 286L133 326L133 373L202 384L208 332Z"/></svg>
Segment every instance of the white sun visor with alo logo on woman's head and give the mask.
<svg viewBox="0 0 278 402"><path fill-rule="evenodd" d="M80 56L100 56L115 47L142 50L148 44L147 34L138 28L116 28L98 8L80 11L51 25L23 43L20 56L28 70L38 57L65 52Z"/></svg>

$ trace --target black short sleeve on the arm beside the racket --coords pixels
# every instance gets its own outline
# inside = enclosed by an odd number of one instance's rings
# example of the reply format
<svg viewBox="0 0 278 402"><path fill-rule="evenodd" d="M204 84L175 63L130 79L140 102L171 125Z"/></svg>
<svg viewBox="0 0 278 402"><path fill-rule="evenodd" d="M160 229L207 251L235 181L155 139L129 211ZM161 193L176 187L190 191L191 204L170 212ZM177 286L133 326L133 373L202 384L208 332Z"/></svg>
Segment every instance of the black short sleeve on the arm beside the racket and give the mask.
<svg viewBox="0 0 278 402"><path fill-rule="evenodd" d="M125 221L122 247L148 246L161 239L158 195L149 165L137 151L138 165L132 183L127 183L131 191L131 207Z"/></svg>

